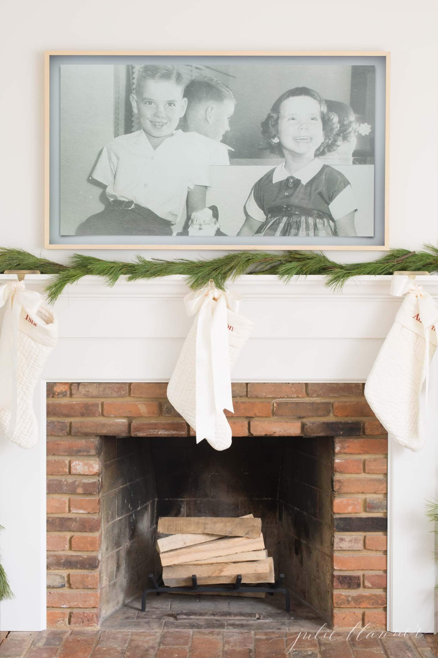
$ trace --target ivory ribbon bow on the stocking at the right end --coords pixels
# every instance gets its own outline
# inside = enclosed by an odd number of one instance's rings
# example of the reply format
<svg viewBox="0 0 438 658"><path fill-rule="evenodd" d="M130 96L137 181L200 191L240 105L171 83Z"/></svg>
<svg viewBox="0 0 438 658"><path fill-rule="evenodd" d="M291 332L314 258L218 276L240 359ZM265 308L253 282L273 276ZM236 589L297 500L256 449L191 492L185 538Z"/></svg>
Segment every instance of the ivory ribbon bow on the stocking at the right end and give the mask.
<svg viewBox="0 0 438 658"><path fill-rule="evenodd" d="M438 307L423 286L419 286L415 279L406 276L393 276L391 280L391 295L403 297L403 295L416 295L418 301L418 312L424 332L424 363L423 378L426 377L426 400L429 393L429 342L432 327L438 324ZM427 405L426 405L427 417Z"/></svg>

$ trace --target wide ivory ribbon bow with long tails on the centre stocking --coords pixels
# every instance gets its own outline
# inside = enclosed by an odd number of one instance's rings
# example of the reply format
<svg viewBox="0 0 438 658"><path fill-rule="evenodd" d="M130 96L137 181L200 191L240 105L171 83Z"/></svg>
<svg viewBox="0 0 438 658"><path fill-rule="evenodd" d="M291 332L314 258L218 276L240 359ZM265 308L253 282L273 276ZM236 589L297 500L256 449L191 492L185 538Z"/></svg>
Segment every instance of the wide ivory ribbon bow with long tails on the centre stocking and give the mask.
<svg viewBox="0 0 438 658"><path fill-rule="evenodd" d="M241 295L217 290L213 282L184 298L187 315L198 313L196 329L196 443L215 436L215 415L234 411L231 397L227 309L237 313Z"/></svg>

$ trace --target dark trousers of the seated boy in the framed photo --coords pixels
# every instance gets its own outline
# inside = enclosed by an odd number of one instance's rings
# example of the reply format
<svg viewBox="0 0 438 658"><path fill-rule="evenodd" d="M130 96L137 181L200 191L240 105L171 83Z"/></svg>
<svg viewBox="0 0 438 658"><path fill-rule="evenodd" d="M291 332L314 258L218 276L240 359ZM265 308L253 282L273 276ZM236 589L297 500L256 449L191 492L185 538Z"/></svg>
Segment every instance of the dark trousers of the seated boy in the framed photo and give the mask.
<svg viewBox="0 0 438 658"><path fill-rule="evenodd" d="M148 208L135 205L131 209L108 205L91 215L76 229L77 236L171 236L172 224L152 213Z"/></svg>

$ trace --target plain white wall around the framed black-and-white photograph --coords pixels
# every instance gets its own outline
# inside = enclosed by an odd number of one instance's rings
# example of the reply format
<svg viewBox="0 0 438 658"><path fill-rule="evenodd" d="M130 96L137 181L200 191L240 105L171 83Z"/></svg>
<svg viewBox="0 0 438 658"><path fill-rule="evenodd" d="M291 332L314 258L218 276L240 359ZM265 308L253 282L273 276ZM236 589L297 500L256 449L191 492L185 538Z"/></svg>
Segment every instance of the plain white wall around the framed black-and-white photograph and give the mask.
<svg viewBox="0 0 438 658"><path fill-rule="evenodd" d="M391 51L391 246L437 243L438 57L435 0L3 0L0 245L66 262L43 245L43 51ZM134 252L87 251L130 260ZM217 252L224 253L224 252ZM216 254L216 252L214 252ZM170 258L173 252L148 251ZM179 251L178 256L196 257ZM213 256L213 252L209 255ZM364 253L374 259L381 253ZM331 252L353 260L357 252Z"/></svg>

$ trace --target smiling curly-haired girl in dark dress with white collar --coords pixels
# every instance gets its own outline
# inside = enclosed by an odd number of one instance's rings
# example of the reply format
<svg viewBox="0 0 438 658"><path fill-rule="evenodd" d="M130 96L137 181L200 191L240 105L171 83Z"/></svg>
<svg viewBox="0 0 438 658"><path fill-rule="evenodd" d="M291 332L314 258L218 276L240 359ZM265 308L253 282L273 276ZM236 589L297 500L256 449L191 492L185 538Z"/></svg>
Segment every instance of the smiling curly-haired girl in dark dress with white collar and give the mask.
<svg viewBox="0 0 438 658"><path fill-rule="evenodd" d="M338 129L320 95L307 87L285 91L261 126L284 162L255 183L238 235L356 236L351 185L317 157L330 150Z"/></svg>

